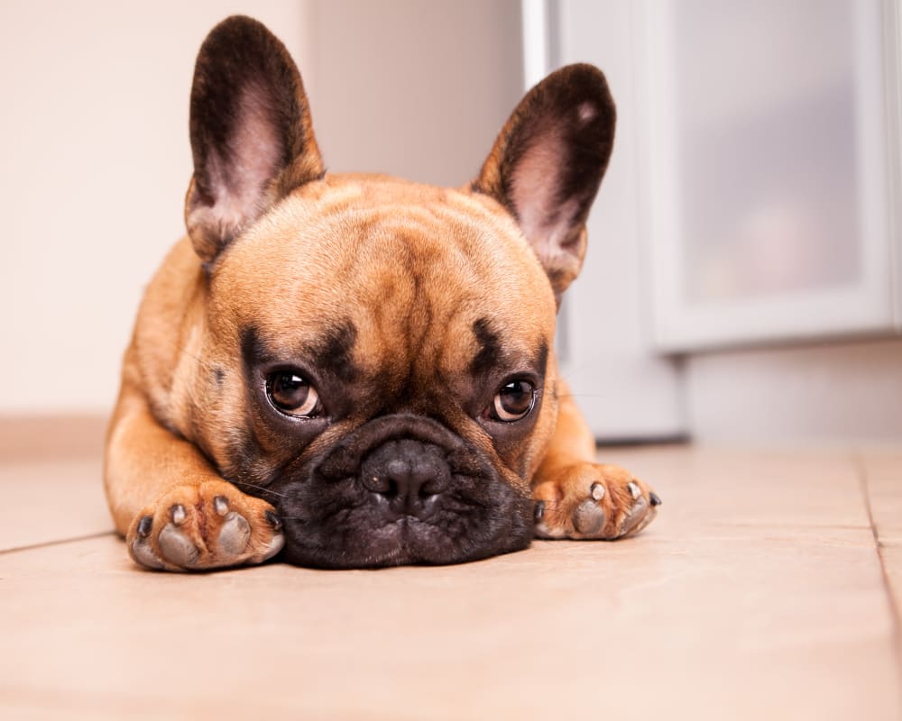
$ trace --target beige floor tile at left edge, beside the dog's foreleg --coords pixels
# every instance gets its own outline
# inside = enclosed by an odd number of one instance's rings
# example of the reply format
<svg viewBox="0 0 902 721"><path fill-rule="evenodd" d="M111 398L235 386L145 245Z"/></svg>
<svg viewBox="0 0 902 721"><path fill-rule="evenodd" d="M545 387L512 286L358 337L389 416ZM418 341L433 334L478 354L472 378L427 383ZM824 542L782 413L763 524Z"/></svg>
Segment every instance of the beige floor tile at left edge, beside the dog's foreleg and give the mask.
<svg viewBox="0 0 902 721"><path fill-rule="evenodd" d="M0 463L0 551L111 532L100 461Z"/></svg>

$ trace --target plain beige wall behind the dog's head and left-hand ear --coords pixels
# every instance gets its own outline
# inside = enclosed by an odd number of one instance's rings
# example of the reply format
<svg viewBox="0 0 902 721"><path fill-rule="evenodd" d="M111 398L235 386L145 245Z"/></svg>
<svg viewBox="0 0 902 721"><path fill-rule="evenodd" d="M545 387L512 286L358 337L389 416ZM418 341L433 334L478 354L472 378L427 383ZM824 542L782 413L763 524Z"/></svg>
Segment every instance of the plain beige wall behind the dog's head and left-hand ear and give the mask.
<svg viewBox="0 0 902 721"><path fill-rule="evenodd" d="M327 164L459 185L520 97L519 0L0 4L0 415L106 413L183 233L198 47L252 14L299 61Z"/></svg>

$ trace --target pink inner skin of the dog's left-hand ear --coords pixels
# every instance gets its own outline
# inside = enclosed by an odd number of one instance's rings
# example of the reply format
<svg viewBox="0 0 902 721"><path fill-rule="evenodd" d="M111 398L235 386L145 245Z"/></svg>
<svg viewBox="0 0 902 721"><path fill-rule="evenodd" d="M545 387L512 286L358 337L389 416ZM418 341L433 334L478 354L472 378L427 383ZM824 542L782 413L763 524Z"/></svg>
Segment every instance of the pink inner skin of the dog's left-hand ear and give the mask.
<svg viewBox="0 0 902 721"><path fill-rule="evenodd" d="M260 214L266 187L280 171L284 149L273 121L270 95L259 83L248 83L236 105L235 135L228 158L216 156L209 167L215 187L216 214L224 226L238 227ZM213 160L213 159L211 159Z"/></svg>

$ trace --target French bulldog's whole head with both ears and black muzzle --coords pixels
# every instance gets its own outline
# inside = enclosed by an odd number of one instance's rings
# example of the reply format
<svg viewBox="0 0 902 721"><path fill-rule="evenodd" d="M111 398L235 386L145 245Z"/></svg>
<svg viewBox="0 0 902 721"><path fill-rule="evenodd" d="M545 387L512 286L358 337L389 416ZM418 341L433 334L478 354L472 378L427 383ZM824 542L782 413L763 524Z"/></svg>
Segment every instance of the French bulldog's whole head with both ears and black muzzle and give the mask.
<svg viewBox="0 0 902 721"><path fill-rule="evenodd" d="M192 440L288 560L465 561L532 536L560 294L611 152L585 65L523 99L461 189L327 175L299 72L229 18L198 56L189 235L207 279Z"/></svg>

